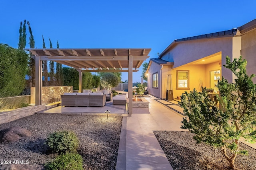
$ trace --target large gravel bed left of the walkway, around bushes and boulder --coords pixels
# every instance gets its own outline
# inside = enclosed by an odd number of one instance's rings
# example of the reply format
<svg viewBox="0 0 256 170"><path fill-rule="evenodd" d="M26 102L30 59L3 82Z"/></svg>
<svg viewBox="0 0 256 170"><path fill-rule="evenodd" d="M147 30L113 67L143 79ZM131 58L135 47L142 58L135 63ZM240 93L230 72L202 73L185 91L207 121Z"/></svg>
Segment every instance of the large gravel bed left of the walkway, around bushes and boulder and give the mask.
<svg viewBox="0 0 256 170"><path fill-rule="evenodd" d="M52 132L68 130L74 131L80 140L78 153L84 158L85 170L114 170L121 125L121 116L106 119L106 116L60 114L34 114L1 124L0 130L17 126L31 131L32 136L0 143L0 169L9 170L13 166L3 164L2 160L28 160L31 169L44 169L43 165L56 156L44 145L46 138Z"/></svg>

